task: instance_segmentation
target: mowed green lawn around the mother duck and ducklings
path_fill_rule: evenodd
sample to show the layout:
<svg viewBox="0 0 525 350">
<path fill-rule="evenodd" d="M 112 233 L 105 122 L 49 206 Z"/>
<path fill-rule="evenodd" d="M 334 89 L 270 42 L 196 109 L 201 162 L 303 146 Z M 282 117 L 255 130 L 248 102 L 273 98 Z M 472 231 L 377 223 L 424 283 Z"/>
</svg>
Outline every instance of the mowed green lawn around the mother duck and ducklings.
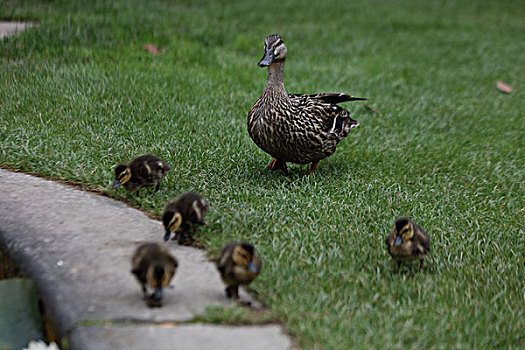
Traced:
<svg viewBox="0 0 525 350">
<path fill-rule="evenodd" d="M 525 346 L 522 2 L 14 0 L 0 14 L 39 23 L 0 43 L 1 166 L 156 215 L 202 193 L 198 238 L 256 245 L 254 292 L 304 348 Z M 345 104 L 361 126 L 312 176 L 268 172 L 246 130 L 272 33 L 289 93 L 380 111 Z M 174 168 L 161 190 L 111 190 L 113 166 L 145 153 Z M 401 215 L 431 237 L 421 273 L 394 273 L 386 251 Z"/>
</svg>

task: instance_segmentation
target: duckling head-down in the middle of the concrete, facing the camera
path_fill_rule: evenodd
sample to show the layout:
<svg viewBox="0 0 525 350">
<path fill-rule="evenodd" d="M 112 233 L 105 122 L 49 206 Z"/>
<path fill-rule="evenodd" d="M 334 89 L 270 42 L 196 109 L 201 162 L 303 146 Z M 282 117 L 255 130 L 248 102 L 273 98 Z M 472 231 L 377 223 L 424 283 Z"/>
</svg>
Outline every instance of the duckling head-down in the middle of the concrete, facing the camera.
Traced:
<svg viewBox="0 0 525 350">
<path fill-rule="evenodd" d="M 166 287 L 177 271 L 177 259 L 169 250 L 157 243 L 141 244 L 131 259 L 131 273 L 142 286 L 148 306 L 162 306 L 162 288 Z M 147 286 L 154 288 L 148 295 Z"/>
</svg>

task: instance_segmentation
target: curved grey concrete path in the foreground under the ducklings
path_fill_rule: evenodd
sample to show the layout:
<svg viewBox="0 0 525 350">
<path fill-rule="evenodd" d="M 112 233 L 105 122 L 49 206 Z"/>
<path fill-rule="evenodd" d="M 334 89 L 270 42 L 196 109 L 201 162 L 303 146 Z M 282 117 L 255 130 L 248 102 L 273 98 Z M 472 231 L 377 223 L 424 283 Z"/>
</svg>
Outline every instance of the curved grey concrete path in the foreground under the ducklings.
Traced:
<svg viewBox="0 0 525 350">
<path fill-rule="evenodd" d="M 122 202 L 0 169 L 0 241 L 36 282 L 71 349 L 292 347 L 278 325 L 181 324 L 230 301 L 204 251 L 172 241 L 174 288 L 163 307 L 148 308 L 130 273 L 131 255 L 140 242 L 162 242 L 162 234 L 159 221 Z"/>
</svg>

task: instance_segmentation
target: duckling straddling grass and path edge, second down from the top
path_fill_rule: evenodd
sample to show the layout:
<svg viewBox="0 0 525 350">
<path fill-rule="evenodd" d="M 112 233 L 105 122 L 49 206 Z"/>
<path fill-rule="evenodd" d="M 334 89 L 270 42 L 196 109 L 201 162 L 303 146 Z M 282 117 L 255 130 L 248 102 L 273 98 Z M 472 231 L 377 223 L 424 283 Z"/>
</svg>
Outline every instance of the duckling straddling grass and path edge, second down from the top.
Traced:
<svg viewBox="0 0 525 350">
<path fill-rule="evenodd" d="M 162 214 L 166 229 L 164 241 L 169 240 L 171 233 L 175 232 L 174 239 L 178 238 L 179 244 L 191 244 L 194 239 L 191 234 L 188 235 L 190 227 L 195 233 L 196 225 L 205 225 L 204 217 L 209 208 L 208 201 L 198 193 L 188 192 L 172 199 Z"/>
</svg>

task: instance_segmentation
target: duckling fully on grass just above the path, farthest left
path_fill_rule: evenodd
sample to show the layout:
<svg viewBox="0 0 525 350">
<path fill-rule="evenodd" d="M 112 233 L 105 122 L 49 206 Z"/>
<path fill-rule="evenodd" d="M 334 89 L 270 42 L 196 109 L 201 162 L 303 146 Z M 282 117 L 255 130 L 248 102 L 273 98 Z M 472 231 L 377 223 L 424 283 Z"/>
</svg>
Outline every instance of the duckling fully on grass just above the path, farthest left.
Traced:
<svg viewBox="0 0 525 350">
<path fill-rule="evenodd" d="M 128 191 L 137 191 L 143 186 L 155 186 L 155 191 L 160 188 L 160 181 L 171 168 L 162 159 L 146 154 L 133 159 L 128 165 L 118 164 L 115 167 L 115 183 L 113 188 L 124 185 Z"/>
</svg>

